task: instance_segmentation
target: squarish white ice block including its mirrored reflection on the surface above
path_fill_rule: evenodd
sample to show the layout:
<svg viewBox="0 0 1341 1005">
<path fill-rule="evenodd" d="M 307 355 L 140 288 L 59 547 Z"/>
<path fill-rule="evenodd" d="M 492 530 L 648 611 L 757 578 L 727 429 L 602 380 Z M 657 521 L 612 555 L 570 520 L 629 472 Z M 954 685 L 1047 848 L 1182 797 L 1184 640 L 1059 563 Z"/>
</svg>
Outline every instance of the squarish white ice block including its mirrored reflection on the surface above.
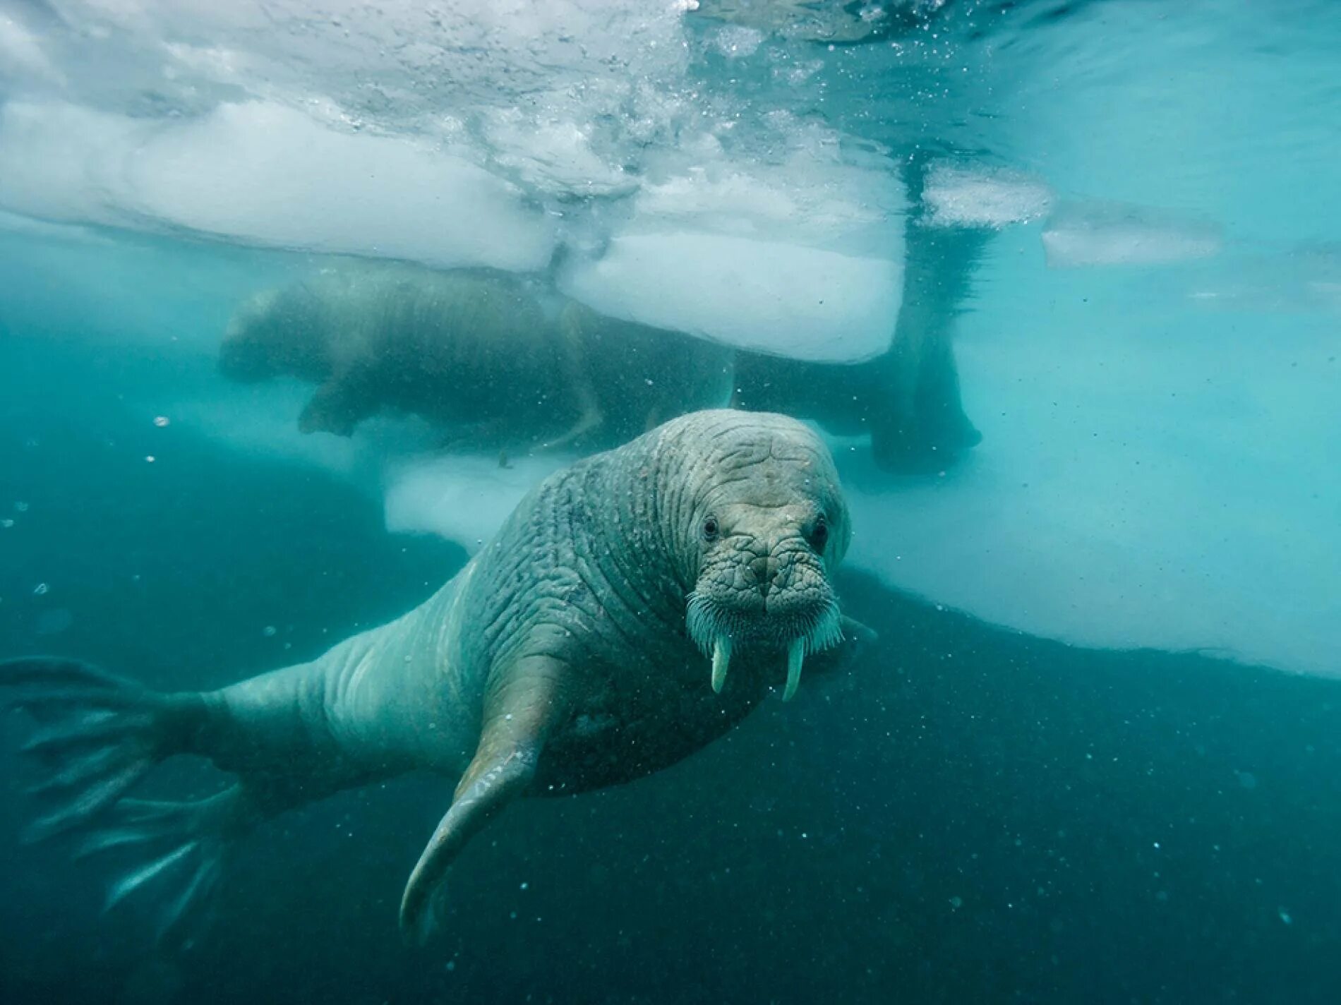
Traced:
<svg viewBox="0 0 1341 1005">
<path fill-rule="evenodd" d="M 666 156 L 628 219 L 559 287 L 593 309 L 725 345 L 850 362 L 889 348 L 902 302 L 902 184 L 835 138 L 775 118 L 776 162 L 713 137 Z"/>
</svg>

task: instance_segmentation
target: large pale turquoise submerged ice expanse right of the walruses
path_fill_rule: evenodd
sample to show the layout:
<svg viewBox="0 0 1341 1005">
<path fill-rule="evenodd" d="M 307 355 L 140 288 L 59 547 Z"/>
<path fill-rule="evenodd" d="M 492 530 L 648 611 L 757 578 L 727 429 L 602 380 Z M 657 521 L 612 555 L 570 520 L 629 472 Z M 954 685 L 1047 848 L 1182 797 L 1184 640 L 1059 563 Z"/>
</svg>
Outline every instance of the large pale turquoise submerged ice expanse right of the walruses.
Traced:
<svg viewBox="0 0 1341 1005">
<path fill-rule="evenodd" d="M 982 444 L 929 483 L 839 451 L 850 561 L 1035 635 L 1341 675 L 1330 318 L 1179 310 L 1147 276 L 1043 284 L 1023 247 L 957 346 Z"/>
</svg>

